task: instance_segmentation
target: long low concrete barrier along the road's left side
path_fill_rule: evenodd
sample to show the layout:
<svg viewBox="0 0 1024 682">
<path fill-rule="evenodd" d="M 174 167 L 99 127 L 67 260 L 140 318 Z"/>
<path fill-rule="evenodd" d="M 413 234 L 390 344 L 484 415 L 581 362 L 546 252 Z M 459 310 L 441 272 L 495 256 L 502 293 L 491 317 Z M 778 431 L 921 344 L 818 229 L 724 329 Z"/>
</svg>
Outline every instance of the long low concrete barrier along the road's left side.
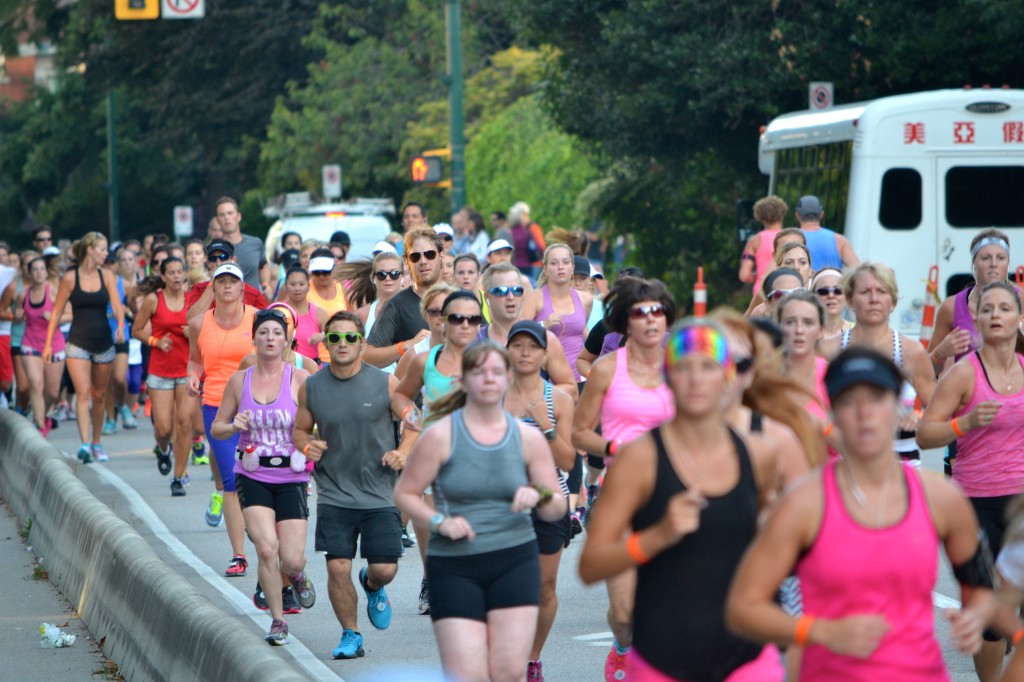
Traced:
<svg viewBox="0 0 1024 682">
<path fill-rule="evenodd" d="M 29 422 L 0 410 L 0 494 L 127 680 L 307 680 L 175 573 Z"/>
</svg>

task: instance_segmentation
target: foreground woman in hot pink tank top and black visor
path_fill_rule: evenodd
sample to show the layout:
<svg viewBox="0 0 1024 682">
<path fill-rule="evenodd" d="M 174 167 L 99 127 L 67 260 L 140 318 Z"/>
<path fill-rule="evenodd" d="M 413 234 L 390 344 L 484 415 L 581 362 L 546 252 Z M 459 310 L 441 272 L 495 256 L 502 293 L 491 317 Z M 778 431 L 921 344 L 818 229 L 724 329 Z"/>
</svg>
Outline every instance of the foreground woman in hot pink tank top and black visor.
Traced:
<svg viewBox="0 0 1024 682">
<path fill-rule="evenodd" d="M 740 564 L 726 622 L 741 636 L 804 647 L 801 680 L 948 680 L 935 638 L 932 589 L 942 543 L 962 578 L 947 610 L 956 648 L 974 653 L 995 610 L 978 522 L 964 495 L 894 453 L 903 377 L 878 351 L 851 347 L 825 384 L 843 459 L 779 503 Z M 796 567 L 804 615 L 773 601 Z"/>
</svg>

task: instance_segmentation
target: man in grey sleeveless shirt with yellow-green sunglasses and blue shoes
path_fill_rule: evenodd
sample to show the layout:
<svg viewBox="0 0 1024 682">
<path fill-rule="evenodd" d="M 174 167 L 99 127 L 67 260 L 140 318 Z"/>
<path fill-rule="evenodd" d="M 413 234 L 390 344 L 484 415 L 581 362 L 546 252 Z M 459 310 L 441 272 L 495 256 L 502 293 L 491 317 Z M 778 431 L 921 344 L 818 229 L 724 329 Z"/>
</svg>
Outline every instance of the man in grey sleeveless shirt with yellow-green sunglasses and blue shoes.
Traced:
<svg viewBox="0 0 1024 682">
<path fill-rule="evenodd" d="M 391 624 L 384 587 L 394 580 L 402 553 L 401 515 L 393 493 L 414 435 L 407 430 L 394 447 L 398 380 L 362 361 L 364 331 L 351 312 L 336 312 L 327 321 L 331 360 L 299 389 L 295 419 L 295 446 L 316 463 L 314 551 L 327 553 L 328 594 L 342 627 L 341 641 L 332 651 L 335 658 L 365 654 L 351 577 L 356 537 L 367 560 L 359 570 L 367 614 L 378 630 Z"/>
</svg>

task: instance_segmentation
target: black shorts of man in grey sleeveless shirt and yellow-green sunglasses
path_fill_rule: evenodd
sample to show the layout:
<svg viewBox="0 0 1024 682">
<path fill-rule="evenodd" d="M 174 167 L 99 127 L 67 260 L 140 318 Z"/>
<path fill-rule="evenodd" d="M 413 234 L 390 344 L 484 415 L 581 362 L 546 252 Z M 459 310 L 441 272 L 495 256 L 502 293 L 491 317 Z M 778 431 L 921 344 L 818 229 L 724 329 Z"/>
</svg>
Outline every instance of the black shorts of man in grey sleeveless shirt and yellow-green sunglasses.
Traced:
<svg viewBox="0 0 1024 682">
<path fill-rule="evenodd" d="M 355 541 L 368 563 L 397 563 L 401 556 L 401 514 L 397 507 L 346 509 L 316 505 L 313 549 L 328 560 L 354 559 Z"/>
</svg>

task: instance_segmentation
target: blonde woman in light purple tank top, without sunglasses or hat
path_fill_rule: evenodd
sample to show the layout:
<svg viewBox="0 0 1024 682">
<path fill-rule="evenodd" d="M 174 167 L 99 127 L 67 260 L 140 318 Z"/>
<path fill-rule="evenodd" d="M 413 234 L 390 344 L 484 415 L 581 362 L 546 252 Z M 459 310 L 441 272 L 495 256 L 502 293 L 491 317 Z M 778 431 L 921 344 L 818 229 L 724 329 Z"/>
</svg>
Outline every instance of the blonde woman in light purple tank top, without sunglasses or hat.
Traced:
<svg viewBox="0 0 1024 682">
<path fill-rule="evenodd" d="M 544 252 L 544 271 L 537 281 L 537 291 L 523 303 L 522 319 L 544 323 L 558 337 L 579 383 L 575 359 L 587 338 L 587 319 L 594 295 L 572 288 L 572 249 L 566 244 L 552 244 Z"/>
</svg>

